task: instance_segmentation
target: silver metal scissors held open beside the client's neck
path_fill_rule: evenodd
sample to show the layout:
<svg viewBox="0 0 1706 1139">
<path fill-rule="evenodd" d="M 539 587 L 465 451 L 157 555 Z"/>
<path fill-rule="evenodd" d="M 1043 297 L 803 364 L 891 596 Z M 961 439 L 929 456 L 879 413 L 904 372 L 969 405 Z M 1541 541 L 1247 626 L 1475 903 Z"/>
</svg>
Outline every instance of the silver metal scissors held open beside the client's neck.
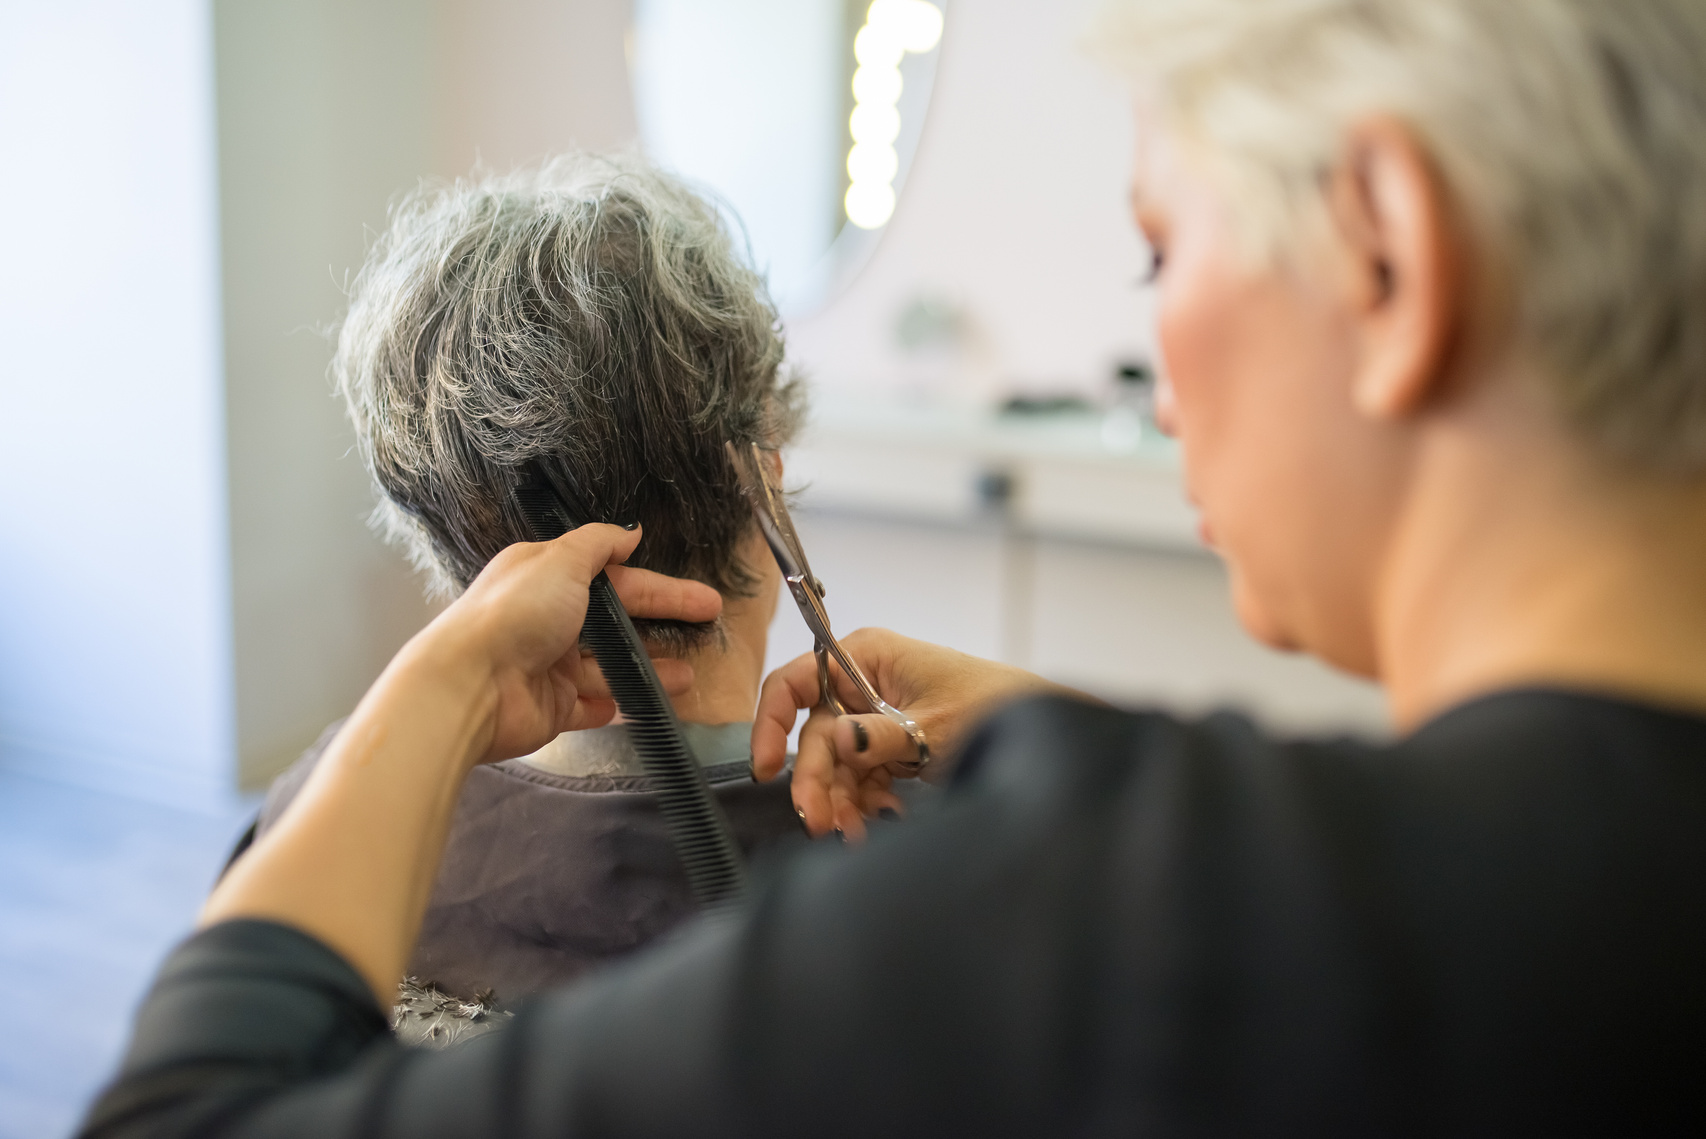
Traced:
<svg viewBox="0 0 1706 1139">
<path fill-rule="evenodd" d="M 829 631 L 829 612 L 824 609 L 824 583 L 812 576 L 812 566 L 805 561 L 805 547 L 800 546 L 800 535 L 793 529 L 788 506 L 781 501 L 781 488 L 776 486 L 776 479 L 769 472 L 769 464 L 764 462 L 763 450 L 757 443 L 752 443 L 746 450 L 734 443 L 723 443 L 723 447 L 728 450 L 728 460 L 735 465 L 740 489 L 746 491 L 747 500 L 752 503 L 757 529 L 764 532 L 769 552 L 776 556 L 776 564 L 781 566 L 781 578 L 788 583 L 788 592 L 793 593 L 793 602 L 800 607 L 800 616 L 805 617 L 805 627 L 812 631 L 812 655 L 817 658 L 817 691 L 824 699 L 824 706 L 838 716 L 848 714 L 846 706 L 836 696 L 836 685 L 829 675 L 829 658 L 834 656 L 836 663 L 841 665 L 841 672 L 853 680 L 853 685 L 858 687 L 860 696 L 865 697 L 870 709 L 882 713 L 906 731 L 913 747 L 918 749 L 918 759 L 897 760 L 896 767 L 901 767 L 906 774 L 918 774 L 930 762 L 930 745 L 925 742 L 925 730 L 911 716 L 877 696 L 877 689 L 865 679 L 865 674 L 848 656 L 848 651 L 841 648 L 836 634 Z"/>
</svg>

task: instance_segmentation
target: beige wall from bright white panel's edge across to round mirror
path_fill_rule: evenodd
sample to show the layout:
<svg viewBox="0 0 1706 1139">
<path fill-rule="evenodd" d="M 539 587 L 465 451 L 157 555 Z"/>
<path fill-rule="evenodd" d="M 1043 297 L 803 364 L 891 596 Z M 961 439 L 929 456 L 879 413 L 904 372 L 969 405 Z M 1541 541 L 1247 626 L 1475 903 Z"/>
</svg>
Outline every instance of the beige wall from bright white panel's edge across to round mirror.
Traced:
<svg viewBox="0 0 1706 1139">
<path fill-rule="evenodd" d="M 633 138 L 624 0 L 213 0 L 242 781 L 346 714 L 432 614 L 367 529 L 326 367 L 386 208 L 421 177 Z"/>
</svg>

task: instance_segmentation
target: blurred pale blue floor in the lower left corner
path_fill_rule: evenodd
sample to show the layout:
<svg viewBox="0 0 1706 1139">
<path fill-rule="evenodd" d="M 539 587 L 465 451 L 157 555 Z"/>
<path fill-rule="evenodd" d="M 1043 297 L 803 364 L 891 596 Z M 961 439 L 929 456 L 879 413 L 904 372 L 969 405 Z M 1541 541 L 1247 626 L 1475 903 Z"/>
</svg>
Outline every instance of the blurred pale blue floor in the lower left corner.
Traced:
<svg viewBox="0 0 1706 1139">
<path fill-rule="evenodd" d="M 58 1139 L 252 808 L 223 817 L 0 772 L 0 1139 Z"/>
</svg>

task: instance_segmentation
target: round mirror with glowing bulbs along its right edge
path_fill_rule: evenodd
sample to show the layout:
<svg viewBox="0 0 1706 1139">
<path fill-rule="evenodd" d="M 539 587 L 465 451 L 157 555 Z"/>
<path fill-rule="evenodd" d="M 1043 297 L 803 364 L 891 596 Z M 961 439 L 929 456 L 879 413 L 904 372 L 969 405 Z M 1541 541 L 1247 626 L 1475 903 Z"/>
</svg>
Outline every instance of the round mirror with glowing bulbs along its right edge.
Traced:
<svg viewBox="0 0 1706 1139">
<path fill-rule="evenodd" d="M 783 314 L 870 254 L 923 130 L 945 0 L 635 0 L 647 153 L 737 217 Z"/>
</svg>

